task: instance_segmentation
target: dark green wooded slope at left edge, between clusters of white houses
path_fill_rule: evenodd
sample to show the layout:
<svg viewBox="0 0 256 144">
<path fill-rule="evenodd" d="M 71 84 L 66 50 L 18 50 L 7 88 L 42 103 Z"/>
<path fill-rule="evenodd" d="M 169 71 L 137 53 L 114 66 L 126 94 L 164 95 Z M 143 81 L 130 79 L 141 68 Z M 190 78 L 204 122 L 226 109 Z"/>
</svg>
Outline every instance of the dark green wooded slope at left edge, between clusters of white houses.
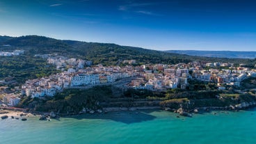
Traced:
<svg viewBox="0 0 256 144">
<path fill-rule="evenodd" d="M 45 77 L 56 72 L 56 67 L 47 64 L 42 58 L 28 55 L 0 56 L 0 79 L 5 79 L 8 86 L 19 86 L 27 79 Z"/>
</svg>

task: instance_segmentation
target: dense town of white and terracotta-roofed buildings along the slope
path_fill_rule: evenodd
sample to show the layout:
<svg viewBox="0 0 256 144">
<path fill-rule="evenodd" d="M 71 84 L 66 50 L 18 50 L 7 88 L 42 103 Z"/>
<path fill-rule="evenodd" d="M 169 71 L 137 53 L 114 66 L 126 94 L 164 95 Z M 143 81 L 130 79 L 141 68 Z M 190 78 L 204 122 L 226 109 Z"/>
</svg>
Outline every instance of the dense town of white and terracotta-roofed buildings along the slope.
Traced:
<svg viewBox="0 0 256 144">
<path fill-rule="evenodd" d="M 93 86 L 116 85 L 122 82 L 122 88 L 151 90 L 156 92 L 169 89 L 191 90 L 189 81 L 214 83 L 215 90 L 240 88 L 241 81 L 256 77 L 256 70 L 233 63 L 207 63 L 193 61 L 191 63 L 146 64 L 136 65 L 136 60 L 125 60 L 125 66 L 93 65 L 92 61 L 79 58 L 67 58 L 53 54 L 37 54 L 45 58 L 47 63 L 55 65 L 60 72 L 49 77 L 30 79 L 16 88 L 13 93 L 1 93 L 3 104 L 16 106 L 22 97 L 54 97 L 65 89 L 92 88 Z M 92 66 L 93 65 L 93 66 Z M 207 85 L 206 85 L 207 86 Z M 211 85 L 212 86 L 212 85 Z"/>
</svg>

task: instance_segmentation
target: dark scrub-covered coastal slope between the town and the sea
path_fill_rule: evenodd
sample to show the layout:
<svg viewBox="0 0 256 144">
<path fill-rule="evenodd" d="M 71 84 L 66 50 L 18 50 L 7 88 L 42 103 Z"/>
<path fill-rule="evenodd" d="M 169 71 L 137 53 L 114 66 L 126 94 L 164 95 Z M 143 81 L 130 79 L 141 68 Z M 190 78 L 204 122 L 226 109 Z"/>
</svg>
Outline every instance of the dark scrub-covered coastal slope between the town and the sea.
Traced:
<svg viewBox="0 0 256 144">
<path fill-rule="evenodd" d="M 115 95 L 120 91 L 118 95 Z M 140 95 L 136 95 L 140 94 Z M 147 95 L 147 96 L 145 96 Z M 154 96 L 154 97 L 153 97 Z M 173 97 L 174 96 L 174 97 Z M 33 111 L 79 113 L 86 109 L 97 111 L 103 109 L 130 110 L 138 108 L 161 108 L 167 111 L 195 112 L 195 109 L 207 111 L 209 109 L 237 110 L 255 106 L 255 95 L 230 94 L 223 91 L 193 91 L 168 93 L 152 93 L 143 90 L 122 91 L 111 86 L 95 87 L 88 90 L 67 89 L 63 93 L 49 99 L 25 99 L 22 106 Z"/>
</svg>

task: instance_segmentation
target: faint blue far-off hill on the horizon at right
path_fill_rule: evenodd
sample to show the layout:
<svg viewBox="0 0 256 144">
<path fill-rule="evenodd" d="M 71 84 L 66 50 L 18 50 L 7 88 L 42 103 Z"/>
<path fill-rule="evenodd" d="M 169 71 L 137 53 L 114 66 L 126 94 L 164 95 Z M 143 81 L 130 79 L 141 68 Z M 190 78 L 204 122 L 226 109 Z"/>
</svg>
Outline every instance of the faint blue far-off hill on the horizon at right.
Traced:
<svg viewBox="0 0 256 144">
<path fill-rule="evenodd" d="M 256 51 L 193 51 L 193 50 L 170 50 L 176 54 L 190 56 L 207 56 L 212 58 L 256 58 Z"/>
</svg>

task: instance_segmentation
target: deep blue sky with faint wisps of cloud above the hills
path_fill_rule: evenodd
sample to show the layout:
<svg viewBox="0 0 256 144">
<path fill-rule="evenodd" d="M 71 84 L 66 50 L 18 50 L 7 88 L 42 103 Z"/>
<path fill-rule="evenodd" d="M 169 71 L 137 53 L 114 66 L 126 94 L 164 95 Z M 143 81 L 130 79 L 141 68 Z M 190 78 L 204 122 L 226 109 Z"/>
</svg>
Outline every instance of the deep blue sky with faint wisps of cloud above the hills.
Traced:
<svg viewBox="0 0 256 144">
<path fill-rule="evenodd" d="M 0 0 L 0 35 L 256 51 L 254 0 Z"/>
</svg>

